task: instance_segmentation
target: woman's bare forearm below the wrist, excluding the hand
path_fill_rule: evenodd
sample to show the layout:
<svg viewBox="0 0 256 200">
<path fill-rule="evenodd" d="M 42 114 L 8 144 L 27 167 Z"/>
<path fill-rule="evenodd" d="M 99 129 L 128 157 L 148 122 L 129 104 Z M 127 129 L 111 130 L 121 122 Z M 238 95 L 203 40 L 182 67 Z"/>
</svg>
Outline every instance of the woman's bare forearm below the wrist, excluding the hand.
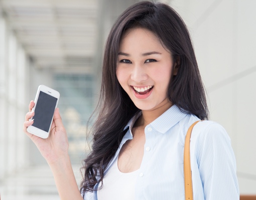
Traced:
<svg viewBox="0 0 256 200">
<path fill-rule="evenodd" d="M 65 158 L 48 164 L 52 169 L 60 199 L 83 200 L 75 180 L 69 156 L 67 155 Z"/>
</svg>

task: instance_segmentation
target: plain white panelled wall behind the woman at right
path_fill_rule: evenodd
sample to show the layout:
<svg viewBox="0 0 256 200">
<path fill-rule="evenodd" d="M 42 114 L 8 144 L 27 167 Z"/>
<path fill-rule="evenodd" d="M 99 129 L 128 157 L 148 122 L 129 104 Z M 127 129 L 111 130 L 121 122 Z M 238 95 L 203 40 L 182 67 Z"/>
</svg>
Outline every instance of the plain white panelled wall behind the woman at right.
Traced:
<svg viewBox="0 0 256 200">
<path fill-rule="evenodd" d="M 167 1 L 165 1 L 167 2 Z M 210 119 L 227 130 L 240 193 L 256 193 L 256 1 L 169 0 L 188 25 Z"/>
</svg>

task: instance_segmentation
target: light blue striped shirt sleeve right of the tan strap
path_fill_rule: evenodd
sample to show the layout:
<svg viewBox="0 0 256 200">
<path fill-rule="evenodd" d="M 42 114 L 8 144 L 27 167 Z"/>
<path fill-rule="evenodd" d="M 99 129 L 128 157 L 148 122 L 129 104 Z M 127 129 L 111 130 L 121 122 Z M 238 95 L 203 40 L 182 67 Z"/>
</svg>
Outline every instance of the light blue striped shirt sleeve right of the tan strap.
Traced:
<svg viewBox="0 0 256 200">
<path fill-rule="evenodd" d="M 225 129 L 216 122 L 209 123 L 200 132 L 197 147 L 205 199 L 239 199 L 236 162 Z"/>
</svg>

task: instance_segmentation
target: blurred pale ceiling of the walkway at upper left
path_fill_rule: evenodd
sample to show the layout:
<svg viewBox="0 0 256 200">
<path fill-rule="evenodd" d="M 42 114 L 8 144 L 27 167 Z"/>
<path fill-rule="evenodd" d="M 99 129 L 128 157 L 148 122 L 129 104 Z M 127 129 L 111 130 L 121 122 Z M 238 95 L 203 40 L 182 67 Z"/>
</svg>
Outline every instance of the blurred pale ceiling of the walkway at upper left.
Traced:
<svg viewBox="0 0 256 200">
<path fill-rule="evenodd" d="M 97 36 L 98 0 L 0 0 L 36 67 L 86 67 Z"/>
</svg>

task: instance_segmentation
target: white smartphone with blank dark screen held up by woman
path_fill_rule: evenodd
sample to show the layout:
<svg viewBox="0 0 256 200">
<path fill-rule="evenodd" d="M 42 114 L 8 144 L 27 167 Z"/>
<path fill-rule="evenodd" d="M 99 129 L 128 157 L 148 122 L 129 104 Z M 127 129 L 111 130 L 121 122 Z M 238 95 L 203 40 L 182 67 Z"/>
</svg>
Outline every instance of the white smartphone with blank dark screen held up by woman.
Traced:
<svg viewBox="0 0 256 200">
<path fill-rule="evenodd" d="M 28 126 L 27 131 L 42 138 L 49 136 L 50 128 L 53 121 L 53 113 L 57 107 L 60 93 L 45 85 L 39 85 L 35 106 L 32 111 L 35 115 L 29 120 L 34 119 L 34 123 Z"/>
</svg>

